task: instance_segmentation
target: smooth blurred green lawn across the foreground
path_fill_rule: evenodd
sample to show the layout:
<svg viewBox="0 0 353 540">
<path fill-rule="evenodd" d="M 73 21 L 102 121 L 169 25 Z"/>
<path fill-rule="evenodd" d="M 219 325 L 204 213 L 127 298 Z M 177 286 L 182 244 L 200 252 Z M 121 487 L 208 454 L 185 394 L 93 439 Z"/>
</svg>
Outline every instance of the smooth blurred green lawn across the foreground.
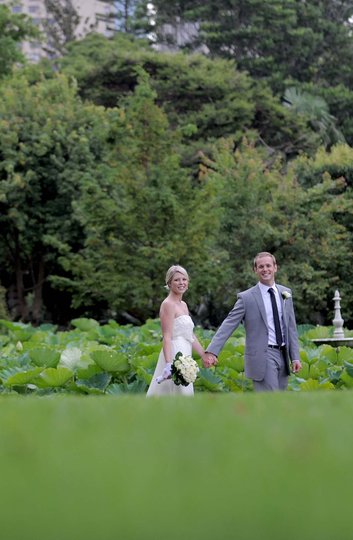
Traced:
<svg viewBox="0 0 353 540">
<path fill-rule="evenodd" d="M 0 398 L 3 540 L 345 540 L 353 392 Z"/>
</svg>

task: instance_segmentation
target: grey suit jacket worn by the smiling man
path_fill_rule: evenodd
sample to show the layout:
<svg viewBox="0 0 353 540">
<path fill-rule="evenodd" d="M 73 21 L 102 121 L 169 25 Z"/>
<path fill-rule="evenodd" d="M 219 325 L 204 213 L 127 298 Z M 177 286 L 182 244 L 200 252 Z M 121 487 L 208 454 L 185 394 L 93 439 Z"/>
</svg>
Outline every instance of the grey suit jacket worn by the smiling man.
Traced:
<svg viewBox="0 0 353 540">
<path fill-rule="evenodd" d="M 287 374 L 290 362 L 299 360 L 297 325 L 292 297 L 283 300 L 283 291 L 291 292 L 287 287 L 277 285 L 282 302 L 283 327 L 285 339 L 285 361 Z M 238 299 L 214 335 L 207 351 L 218 356 L 227 339 L 240 323 L 244 324 L 245 338 L 245 375 L 255 381 L 265 376 L 268 345 L 268 324 L 265 305 L 259 285 L 238 294 Z"/>
</svg>

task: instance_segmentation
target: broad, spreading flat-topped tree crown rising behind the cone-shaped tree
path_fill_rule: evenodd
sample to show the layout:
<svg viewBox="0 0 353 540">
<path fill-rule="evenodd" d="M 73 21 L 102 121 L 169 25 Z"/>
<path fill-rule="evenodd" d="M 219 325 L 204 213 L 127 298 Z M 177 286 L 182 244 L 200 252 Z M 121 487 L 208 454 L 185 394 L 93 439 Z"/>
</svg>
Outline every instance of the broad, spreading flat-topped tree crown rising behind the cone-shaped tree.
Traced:
<svg viewBox="0 0 353 540">
<path fill-rule="evenodd" d="M 237 70 L 233 60 L 156 52 L 144 40 L 119 34 L 72 43 L 61 66 L 77 79 L 84 99 L 106 107 L 133 91 L 142 66 L 157 104 L 183 133 L 189 161 L 217 138 L 229 135 L 237 143 L 249 129 L 261 144 L 288 157 L 313 153 L 320 144 L 308 119 L 285 107 L 264 82 Z"/>
</svg>

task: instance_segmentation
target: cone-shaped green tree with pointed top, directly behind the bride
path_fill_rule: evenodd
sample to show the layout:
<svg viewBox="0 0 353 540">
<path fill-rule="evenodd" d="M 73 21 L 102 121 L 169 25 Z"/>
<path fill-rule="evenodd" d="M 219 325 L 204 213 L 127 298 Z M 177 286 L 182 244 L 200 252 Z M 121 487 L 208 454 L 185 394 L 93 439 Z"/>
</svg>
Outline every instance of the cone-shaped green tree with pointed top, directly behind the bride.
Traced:
<svg viewBox="0 0 353 540">
<path fill-rule="evenodd" d="M 176 135 L 155 100 L 142 73 L 134 94 L 109 112 L 109 168 L 86 183 L 75 204 L 85 245 L 62 257 L 73 277 L 60 282 L 75 305 L 93 309 L 103 303 L 108 315 L 123 320 L 158 315 L 172 264 L 194 273 L 189 298 L 195 304 L 205 276 L 212 280 L 212 194 L 181 167 Z"/>
</svg>

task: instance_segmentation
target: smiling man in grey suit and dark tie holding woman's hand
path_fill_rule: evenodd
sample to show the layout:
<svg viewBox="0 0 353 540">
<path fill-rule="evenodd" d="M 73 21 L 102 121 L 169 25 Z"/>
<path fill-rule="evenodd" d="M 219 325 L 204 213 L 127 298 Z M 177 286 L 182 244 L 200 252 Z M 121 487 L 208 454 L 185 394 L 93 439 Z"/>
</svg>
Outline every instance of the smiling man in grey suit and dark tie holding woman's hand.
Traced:
<svg viewBox="0 0 353 540">
<path fill-rule="evenodd" d="M 258 283 L 238 294 L 238 300 L 207 348 L 208 366 L 242 322 L 246 331 L 245 375 L 256 391 L 285 390 L 292 371 L 301 368 L 298 334 L 290 289 L 277 285 L 276 259 L 266 251 L 254 259 Z M 207 367 L 207 366 L 206 366 Z"/>
</svg>

